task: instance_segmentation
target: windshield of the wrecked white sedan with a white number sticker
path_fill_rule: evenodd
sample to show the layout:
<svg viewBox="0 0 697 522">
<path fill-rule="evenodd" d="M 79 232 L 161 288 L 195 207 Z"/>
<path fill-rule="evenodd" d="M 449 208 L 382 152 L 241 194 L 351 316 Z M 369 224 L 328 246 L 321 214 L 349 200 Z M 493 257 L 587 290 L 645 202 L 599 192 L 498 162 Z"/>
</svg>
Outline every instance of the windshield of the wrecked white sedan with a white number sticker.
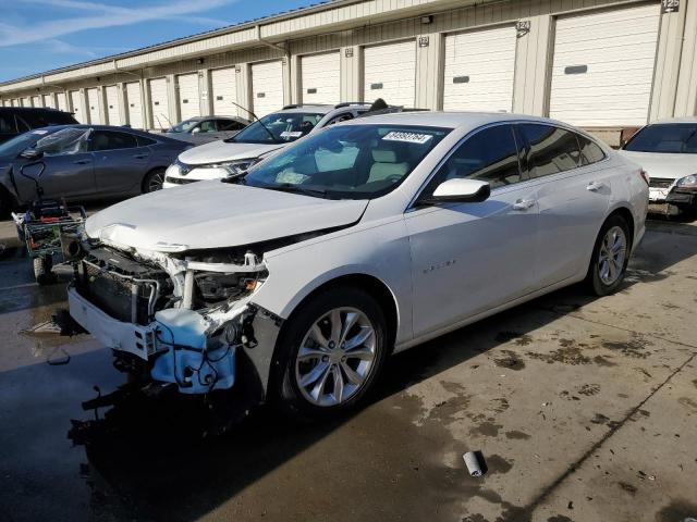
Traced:
<svg viewBox="0 0 697 522">
<path fill-rule="evenodd" d="M 450 132 L 405 125 L 329 127 L 249 170 L 254 187 L 337 199 L 388 194 Z"/>
</svg>

